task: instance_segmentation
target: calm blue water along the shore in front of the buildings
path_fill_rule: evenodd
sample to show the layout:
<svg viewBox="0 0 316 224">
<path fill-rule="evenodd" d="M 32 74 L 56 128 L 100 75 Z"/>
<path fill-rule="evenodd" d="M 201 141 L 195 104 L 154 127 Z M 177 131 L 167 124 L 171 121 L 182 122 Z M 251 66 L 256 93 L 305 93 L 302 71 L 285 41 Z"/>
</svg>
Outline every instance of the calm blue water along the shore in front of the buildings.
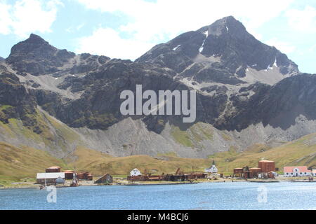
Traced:
<svg viewBox="0 0 316 224">
<path fill-rule="evenodd" d="M 263 186 L 267 200 L 258 202 Z M 0 209 L 316 209 L 316 183 L 58 188 L 57 203 L 48 203 L 47 195 L 37 189 L 0 190 Z"/>
</svg>

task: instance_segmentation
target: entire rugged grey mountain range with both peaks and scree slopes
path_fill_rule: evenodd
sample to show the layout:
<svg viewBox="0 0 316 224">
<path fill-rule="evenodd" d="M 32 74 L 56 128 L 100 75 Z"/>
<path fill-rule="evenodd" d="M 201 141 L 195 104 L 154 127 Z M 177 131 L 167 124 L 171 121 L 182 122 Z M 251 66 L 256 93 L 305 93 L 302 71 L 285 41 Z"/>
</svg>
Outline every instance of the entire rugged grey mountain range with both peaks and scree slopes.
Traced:
<svg viewBox="0 0 316 224">
<path fill-rule="evenodd" d="M 316 132 L 316 76 L 256 40 L 233 17 L 180 34 L 131 60 L 59 50 L 31 34 L 0 62 L 0 141 L 67 158 L 206 158 L 278 146 Z M 122 116 L 123 90 L 196 90 L 197 119 Z"/>
</svg>

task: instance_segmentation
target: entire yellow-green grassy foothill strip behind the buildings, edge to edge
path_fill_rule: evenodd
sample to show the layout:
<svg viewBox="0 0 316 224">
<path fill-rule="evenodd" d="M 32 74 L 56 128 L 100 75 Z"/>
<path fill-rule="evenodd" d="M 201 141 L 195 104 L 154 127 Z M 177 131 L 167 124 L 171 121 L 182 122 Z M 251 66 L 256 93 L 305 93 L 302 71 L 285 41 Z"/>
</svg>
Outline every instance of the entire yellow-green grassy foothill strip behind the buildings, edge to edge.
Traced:
<svg viewBox="0 0 316 224">
<path fill-rule="evenodd" d="M 258 160 L 274 160 L 277 167 L 285 165 L 316 166 L 316 133 L 302 137 L 276 148 L 265 145 L 255 145 L 243 153 L 237 153 L 235 148 L 225 153 L 216 153 L 209 159 L 178 158 L 174 153 L 157 155 L 152 158 L 148 155 L 133 155 L 116 158 L 110 155 L 79 147 L 74 152 L 74 160 L 67 165 L 53 158 L 44 151 L 29 147 L 13 147 L 9 144 L 0 143 L 0 184 L 22 177 L 34 178 L 37 172 L 43 172 L 46 167 L 59 165 L 65 169 L 87 171 L 95 176 L 110 173 L 113 175 L 129 174 L 131 169 L 137 167 L 141 172 L 147 169 L 152 174 L 175 172 L 180 167 L 185 172 L 203 171 L 209 167 L 212 160 L 216 161 L 219 172 L 231 174 L 235 167 L 257 167 Z M 71 162 L 72 161 L 72 162 Z"/>
</svg>

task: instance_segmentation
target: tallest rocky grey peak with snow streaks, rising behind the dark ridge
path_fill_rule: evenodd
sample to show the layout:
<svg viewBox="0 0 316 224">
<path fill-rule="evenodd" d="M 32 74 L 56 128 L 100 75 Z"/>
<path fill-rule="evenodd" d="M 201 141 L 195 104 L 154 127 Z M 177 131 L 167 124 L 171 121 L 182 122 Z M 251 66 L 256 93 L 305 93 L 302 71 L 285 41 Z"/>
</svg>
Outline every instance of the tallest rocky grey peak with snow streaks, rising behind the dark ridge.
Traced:
<svg viewBox="0 0 316 224">
<path fill-rule="evenodd" d="M 236 85 L 261 80 L 275 84 L 298 73 L 298 66 L 287 55 L 256 40 L 232 16 L 156 45 L 136 62 L 161 64 L 177 71 L 177 78 L 190 78 L 191 83 Z"/>
</svg>

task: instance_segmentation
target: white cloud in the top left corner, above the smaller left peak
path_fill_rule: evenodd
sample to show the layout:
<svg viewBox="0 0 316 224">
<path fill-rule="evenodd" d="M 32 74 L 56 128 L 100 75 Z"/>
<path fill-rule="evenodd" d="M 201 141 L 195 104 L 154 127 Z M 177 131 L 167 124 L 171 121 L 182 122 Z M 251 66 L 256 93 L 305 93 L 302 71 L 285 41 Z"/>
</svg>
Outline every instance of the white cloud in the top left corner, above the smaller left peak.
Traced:
<svg viewBox="0 0 316 224">
<path fill-rule="evenodd" d="M 50 32 L 59 5 L 58 0 L 19 0 L 14 4 L 0 0 L 0 34 L 25 38 L 31 32 Z"/>
</svg>

